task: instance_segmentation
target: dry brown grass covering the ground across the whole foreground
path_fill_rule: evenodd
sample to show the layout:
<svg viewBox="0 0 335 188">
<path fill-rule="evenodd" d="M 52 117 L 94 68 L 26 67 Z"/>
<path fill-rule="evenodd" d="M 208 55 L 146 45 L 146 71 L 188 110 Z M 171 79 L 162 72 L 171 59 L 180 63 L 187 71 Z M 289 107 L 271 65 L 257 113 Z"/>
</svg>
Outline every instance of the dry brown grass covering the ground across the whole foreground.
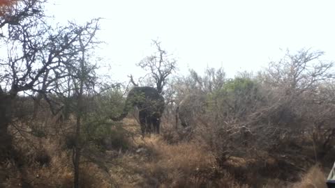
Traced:
<svg viewBox="0 0 335 188">
<path fill-rule="evenodd" d="M 124 123 L 131 125 L 126 126 L 129 132 L 139 132 L 140 126 L 133 126 L 134 120 L 126 119 Z M 17 140 L 24 165 L 20 169 L 14 162 L 0 165 L 0 180 L 3 172 L 8 176 L 3 186 L 22 187 L 24 179 L 32 187 L 73 187 L 72 155 L 62 148 L 62 139 L 30 136 L 31 143 Z M 276 173 L 271 168 L 277 168 L 278 161 L 267 155 L 263 159 L 230 157 L 222 168 L 216 164 L 213 151 L 198 141 L 169 142 L 164 136 L 155 135 L 142 139 L 140 134 L 131 141 L 127 150 L 101 153 L 105 169 L 82 157 L 81 187 L 288 187 L 288 182 L 260 175 L 260 171 Z M 41 165 L 36 157 L 43 153 L 50 156 L 50 162 Z M 325 187 L 325 175 L 318 166 L 301 177 L 301 182 L 290 187 Z"/>
</svg>

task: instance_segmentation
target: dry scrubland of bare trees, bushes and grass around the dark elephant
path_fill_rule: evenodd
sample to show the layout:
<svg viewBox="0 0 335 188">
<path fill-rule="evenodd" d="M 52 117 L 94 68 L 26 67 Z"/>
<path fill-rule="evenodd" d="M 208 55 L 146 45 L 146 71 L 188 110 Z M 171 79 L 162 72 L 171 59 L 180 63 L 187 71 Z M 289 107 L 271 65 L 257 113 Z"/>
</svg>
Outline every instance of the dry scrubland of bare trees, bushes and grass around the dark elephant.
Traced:
<svg viewBox="0 0 335 188">
<path fill-rule="evenodd" d="M 326 187 L 335 72 L 323 52 L 231 79 L 177 75 L 154 41 L 147 77 L 111 83 L 91 63 L 98 19 L 54 28 L 43 2 L 17 3 L 0 14 L 0 187 Z M 161 134 L 142 138 L 137 109 L 111 120 L 132 86 L 165 97 Z"/>
</svg>

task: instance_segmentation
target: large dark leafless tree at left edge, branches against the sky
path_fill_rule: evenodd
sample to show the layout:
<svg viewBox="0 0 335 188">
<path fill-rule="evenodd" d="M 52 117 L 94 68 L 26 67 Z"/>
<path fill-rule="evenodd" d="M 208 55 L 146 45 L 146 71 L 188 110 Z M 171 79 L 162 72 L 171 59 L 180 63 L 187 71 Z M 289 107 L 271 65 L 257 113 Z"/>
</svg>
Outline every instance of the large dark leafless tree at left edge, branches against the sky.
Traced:
<svg viewBox="0 0 335 188">
<path fill-rule="evenodd" d="M 18 93 L 49 93 L 57 81 L 67 77 L 66 63 L 73 61 L 80 33 L 73 26 L 49 26 L 43 1 L 18 1 L 3 15 L 0 59 L 0 141 L 1 156 L 10 151 L 8 126 L 11 104 Z M 43 94 L 43 95 L 44 95 Z"/>
</svg>

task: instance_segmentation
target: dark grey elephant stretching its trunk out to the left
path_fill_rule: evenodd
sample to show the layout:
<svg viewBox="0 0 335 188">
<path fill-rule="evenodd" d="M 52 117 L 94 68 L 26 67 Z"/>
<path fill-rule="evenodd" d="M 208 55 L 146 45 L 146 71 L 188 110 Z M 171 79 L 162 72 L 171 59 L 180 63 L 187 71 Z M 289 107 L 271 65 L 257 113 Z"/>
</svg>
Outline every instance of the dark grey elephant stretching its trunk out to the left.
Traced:
<svg viewBox="0 0 335 188">
<path fill-rule="evenodd" d="M 165 103 L 164 97 L 158 93 L 157 89 L 149 86 L 132 88 L 126 97 L 126 104 L 121 115 L 111 117 L 111 119 L 122 120 L 133 107 L 137 107 L 139 111 L 142 136 L 145 133 L 151 134 L 151 126 L 154 127 L 154 133 L 159 134 Z"/>
</svg>

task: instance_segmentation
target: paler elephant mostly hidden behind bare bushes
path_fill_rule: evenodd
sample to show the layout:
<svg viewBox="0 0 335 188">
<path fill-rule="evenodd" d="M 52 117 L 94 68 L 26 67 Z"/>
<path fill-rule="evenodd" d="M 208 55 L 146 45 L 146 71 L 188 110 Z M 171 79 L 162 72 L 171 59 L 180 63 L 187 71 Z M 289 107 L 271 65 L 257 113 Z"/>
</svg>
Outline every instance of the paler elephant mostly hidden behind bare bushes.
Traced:
<svg viewBox="0 0 335 188">
<path fill-rule="evenodd" d="M 189 127 L 195 123 L 195 118 L 204 113 L 206 98 L 201 94 L 188 94 L 179 102 L 176 109 L 176 127 L 180 120 L 181 126 Z"/>
</svg>

